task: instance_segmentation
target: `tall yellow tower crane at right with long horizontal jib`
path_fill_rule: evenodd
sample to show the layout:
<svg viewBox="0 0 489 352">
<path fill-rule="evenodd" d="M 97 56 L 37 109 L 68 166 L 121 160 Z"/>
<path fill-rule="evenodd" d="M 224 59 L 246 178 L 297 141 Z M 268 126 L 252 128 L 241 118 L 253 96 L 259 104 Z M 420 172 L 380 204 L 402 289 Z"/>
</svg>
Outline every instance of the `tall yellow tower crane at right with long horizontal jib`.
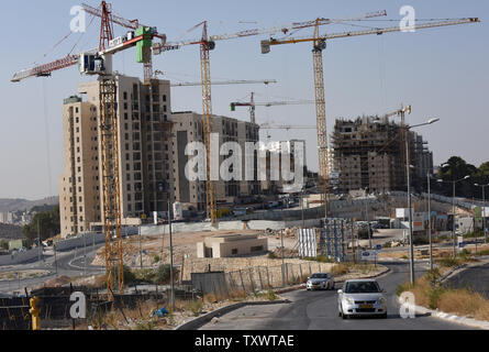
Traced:
<svg viewBox="0 0 489 352">
<path fill-rule="evenodd" d="M 318 20 L 319 21 L 319 20 Z M 432 21 L 429 23 L 415 24 L 415 30 L 423 30 L 437 26 L 457 25 L 480 22 L 478 18 L 464 18 L 444 21 Z M 275 40 L 269 38 L 262 41 L 262 53 L 268 54 L 270 52 L 270 46 L 281 45 L 281 44 L 296 44 L 312 42 L 313 50 L 313 72 L 314 72 L 314 92 L 316 101 L 316 120 L 318 120 L 318 152 L 319 152 L 319 176 L 323 188 L 322 200 L 324 201 L 324 212 L 327 217 L 329 208 L 329 175 L 327 175 L 327 130 L 326 130 L 326 116 L 325 116 L 325 97 L 324 97 L 324 77 L 323 77 L 323 57 L 322 52 L 326 48 L 326 41 L 335 38 L 344 38 L 359 35 L 381 35 L 384 33 L 401 32 L 403 29 L 401 26 L 392 28 L 379 28 L 366 31 L 352 31 L 342 33 L 332 33 L 320 35 L 319 33 L 319 22 L 314 26 L 314 35 L 300 38 L 284 38 Z M 405 111 L 404 111 L 405 112 Z M 403 117 L 404 112 L 399 112 Z M 396 112 L 397 114 L 398 112 Z"/>
</svg>

